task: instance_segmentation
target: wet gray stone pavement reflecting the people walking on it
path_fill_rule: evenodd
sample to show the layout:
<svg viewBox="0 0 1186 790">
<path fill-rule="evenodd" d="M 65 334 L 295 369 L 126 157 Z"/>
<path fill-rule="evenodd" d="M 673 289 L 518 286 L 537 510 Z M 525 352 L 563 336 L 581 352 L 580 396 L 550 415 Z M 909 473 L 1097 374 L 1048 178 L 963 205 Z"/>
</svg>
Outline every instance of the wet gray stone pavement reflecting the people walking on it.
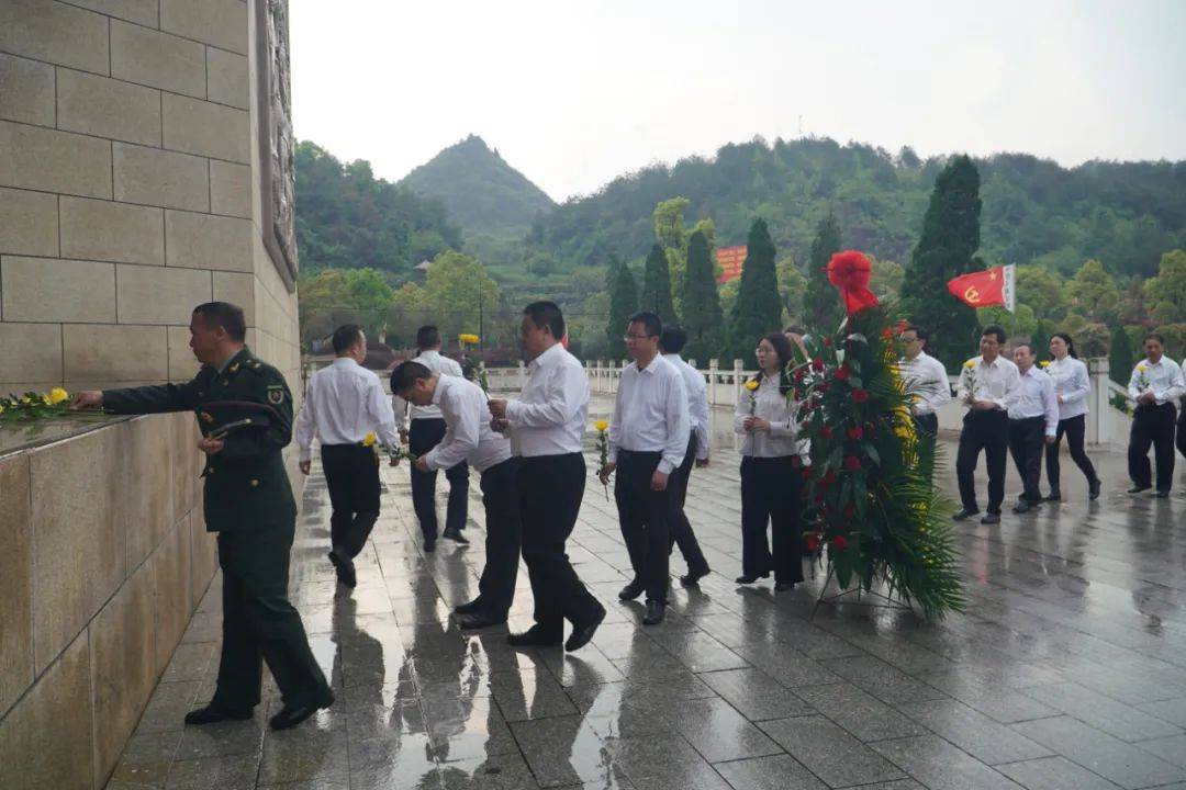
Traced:
<svg viewBox="0 0 1186 790">
<path fill-rule="evenodd" d="M 770 582 L 733 584 L 738 457 L 731 415 L 714 419 L 713 464 L 693 474 L 688 500 L 713 574 L 699 590 L 672 578 L 668 621 L 642 627 L 642 605 L 617 599 L 630 563 L 591 479 L 569 555 L 608 616 L 574 654 L 512 650 L 505 627 L 449 622 L 483 563 L 477 479 L 473 544 L 426 555 L 408 473 L 384 467 L 384 512 L 351 592 L 325 558 L 315 468 L 292 596 L 337 704 L 273 733 L 269 681 L 254 720 L 181 725 L 217 673 L 216 579 L 107 786 L 1186 790 L 1181 474 L 1168 501 L 1130 497 L 1123 456 L 1096 451 L 1104 496 L 1089 505 L 1067 460 L 1061 505 L 959 525 L 965 614 L 927 624 L 824 605 L 812 618 L 822 574 L 777 597 Z M 1019 488 L 1010 468 L 1010 499 Z M 671 571 L 684 572 L 678 552 Z M 518 585 L 512 630 L 530 623 L 525 571 Z"/>
</svg>

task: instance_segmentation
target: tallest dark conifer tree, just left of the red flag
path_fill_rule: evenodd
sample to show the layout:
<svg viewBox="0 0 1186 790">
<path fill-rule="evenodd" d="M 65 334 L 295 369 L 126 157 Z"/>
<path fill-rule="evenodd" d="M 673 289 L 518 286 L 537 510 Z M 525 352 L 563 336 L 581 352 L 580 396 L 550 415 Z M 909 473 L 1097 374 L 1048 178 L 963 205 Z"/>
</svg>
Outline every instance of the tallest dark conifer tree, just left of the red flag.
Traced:
<svg viewBox="0 0 1186 790">
<path fill-rule="evenodd" d="M 973 257 L 980 248 L 981 205 L 980 172 L 968 156 L 956 156 L 935 179 L 901 287 L 906 314 L 931 333 L 927 353 L 948 370 L 976 353 L 976 313 L 948 294 L 946 284 L 984 268 Z"/>
</svg>

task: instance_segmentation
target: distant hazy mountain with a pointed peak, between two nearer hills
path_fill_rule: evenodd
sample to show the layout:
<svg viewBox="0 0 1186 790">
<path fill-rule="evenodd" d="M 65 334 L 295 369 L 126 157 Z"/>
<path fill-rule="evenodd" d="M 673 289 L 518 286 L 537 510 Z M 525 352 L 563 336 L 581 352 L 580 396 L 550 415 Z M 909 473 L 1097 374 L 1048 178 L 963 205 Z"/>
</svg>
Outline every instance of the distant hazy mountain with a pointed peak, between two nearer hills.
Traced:
<svg viewBox="0 0 1186 790">
<path fill-rule="evenodd" d="M 556 205 L 476 135 L 408 173 L 400 186 L 440 200 L 467 235 L 518 237 Z"/>
</svg>

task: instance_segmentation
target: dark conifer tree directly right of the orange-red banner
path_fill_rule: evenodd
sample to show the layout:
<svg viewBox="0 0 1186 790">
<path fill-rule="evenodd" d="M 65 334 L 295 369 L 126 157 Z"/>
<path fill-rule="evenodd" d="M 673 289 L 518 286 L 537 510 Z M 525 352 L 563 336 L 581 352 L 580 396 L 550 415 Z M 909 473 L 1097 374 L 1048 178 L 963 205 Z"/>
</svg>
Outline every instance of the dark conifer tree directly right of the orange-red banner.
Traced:
<svg viewBox="0 0 1186 790">
<path fill-rule="evenodd" d="M 778 276 L 774 271 L 774 243 L 770 238 L 766 220 L 753 220 L 746 244 L 741 288 L 729 320 L 732 357 L 728 361 L 740 359 L 746 367 L 753 367 L 757 365 L 753 349 L 758 347 L 758 342 L 782 328 L 779 322 L 783 317 L 783 302 L 778 295 Z"/>
</svg>

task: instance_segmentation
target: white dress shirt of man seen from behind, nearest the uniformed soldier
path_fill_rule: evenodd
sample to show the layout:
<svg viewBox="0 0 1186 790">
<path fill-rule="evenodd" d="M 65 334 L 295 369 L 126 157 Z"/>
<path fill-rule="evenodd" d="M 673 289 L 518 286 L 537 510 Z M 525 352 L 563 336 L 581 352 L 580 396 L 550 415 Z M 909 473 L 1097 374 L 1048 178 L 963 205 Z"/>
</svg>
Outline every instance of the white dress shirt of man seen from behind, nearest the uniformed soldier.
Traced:
<svg viewBox="0 0 1186 790">
<path fill-rule="evenodd" d="M 321 444 L 358 444 L 371 431 L 385 444 L 400 441 L 395 415 L 375 373 L 347 357 L 339 357 L 310 378 L 305 403 L 296 416 L 301 461 L 313 457 L 314 436 Z"/>
</svg>

